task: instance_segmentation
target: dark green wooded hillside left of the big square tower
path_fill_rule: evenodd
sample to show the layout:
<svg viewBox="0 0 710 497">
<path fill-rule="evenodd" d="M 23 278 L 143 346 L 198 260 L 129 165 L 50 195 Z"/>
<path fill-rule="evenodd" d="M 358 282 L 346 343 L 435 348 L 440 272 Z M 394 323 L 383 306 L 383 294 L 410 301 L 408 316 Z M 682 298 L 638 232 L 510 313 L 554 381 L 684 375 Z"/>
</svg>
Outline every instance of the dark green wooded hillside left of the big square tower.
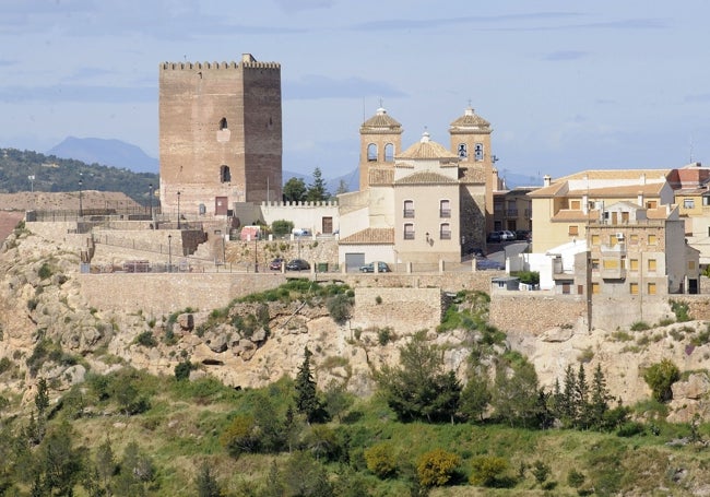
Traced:
<svg viewBox="0 0 710 497">
<path fill-rule="evenodd" d="M 149 185 L 158 185 L 158 176 L 152 173 L 133 173 L 32 151 L 0 149 L 0 193 L 78 192 L 80 179 L 84 190 L 122 192 L 145 205 L 149 203 Z"/>
</svg>

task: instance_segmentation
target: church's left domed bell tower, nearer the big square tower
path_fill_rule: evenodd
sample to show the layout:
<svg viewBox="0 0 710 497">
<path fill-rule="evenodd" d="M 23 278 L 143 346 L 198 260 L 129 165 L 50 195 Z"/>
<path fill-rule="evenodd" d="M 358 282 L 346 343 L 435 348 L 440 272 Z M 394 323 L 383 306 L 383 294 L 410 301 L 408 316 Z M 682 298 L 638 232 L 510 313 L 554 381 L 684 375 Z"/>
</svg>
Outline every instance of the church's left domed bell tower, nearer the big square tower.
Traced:
<svg viewBox="0 0 710 497">
<path fill-rule="evenodd" d="M 376 166 L 394 167 L 394 154 L 402 152 L 402 125 L 387 110 L 377 114 L 360 126 L 360 190 L 369 188 L 369 170 Z"/>
</svg>

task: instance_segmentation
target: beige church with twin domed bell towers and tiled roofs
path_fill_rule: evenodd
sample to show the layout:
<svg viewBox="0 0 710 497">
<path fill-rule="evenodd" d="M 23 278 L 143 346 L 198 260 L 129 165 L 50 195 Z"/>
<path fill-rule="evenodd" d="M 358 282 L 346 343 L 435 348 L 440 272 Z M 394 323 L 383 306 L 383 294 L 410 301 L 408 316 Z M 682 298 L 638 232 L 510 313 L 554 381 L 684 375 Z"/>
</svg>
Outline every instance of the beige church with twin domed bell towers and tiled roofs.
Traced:
<svg viewBox="0 0 710 497">
<path fill-rule="evenodd" d="M 401 125 L 382 108 L 360 127 L 360 191 L 339 196 L 340 263 L 460 262 L 485 244 L 497 175 L 490 128 L 468 108 L 451 123 L 452 150 L 428 132 L 398 153 Z"/>
</svg>

